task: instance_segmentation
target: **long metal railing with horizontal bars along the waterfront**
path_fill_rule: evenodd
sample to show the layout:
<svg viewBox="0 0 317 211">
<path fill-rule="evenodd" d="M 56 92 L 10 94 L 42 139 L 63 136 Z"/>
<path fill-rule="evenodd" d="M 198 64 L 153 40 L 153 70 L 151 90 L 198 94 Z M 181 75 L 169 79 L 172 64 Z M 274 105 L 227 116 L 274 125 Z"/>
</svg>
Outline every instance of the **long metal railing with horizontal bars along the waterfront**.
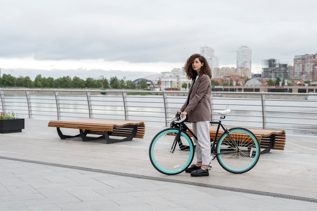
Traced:
<svg viewBox="0 0 317 211">
<path fill-rule="evenodd" d="M 20 118 L 106 118 L 168 126 L 187 92 L 0 89 L 1 106 Z M 228 126 L 317 135 L 317 94 L 213 92 L 212 110 L 231 109 Z M 213 120 L 219 115 L 213 115 Z"/>
</svg>

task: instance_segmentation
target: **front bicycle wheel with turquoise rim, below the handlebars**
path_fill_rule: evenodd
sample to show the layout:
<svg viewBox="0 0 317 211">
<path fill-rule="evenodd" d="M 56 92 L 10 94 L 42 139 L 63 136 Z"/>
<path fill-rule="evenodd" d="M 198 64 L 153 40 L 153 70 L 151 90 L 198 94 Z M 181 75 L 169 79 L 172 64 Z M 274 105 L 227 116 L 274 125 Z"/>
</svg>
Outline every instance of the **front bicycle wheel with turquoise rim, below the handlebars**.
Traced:
<svg viewBox="0 0 317 211">
<path fill-rule="evenodd" d="M 194 145 L 185 132 L 169 128 L 153 138 L 149 156 L 157 171 L 176 175 L 190 165 L 194 157 Z"/>
</svg>

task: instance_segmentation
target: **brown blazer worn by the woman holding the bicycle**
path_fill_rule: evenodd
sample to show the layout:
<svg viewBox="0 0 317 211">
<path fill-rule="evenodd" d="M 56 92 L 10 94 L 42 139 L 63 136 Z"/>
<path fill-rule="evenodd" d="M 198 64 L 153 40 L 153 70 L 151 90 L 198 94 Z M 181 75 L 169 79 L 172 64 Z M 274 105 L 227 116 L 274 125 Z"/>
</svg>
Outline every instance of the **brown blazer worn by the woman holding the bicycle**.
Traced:
<svg viewBox="0 0 317 211">
<path fill-rule="evenodd" d="M 188 96 L 189 103 L 187 105 Z M 180 109 L 182 112 L 187 112 L 188 121 L 211 121 L 211 81 L 209 76 L 200 75 L 196 82 L 191 83 L 188 96 Z"/>
</svg>

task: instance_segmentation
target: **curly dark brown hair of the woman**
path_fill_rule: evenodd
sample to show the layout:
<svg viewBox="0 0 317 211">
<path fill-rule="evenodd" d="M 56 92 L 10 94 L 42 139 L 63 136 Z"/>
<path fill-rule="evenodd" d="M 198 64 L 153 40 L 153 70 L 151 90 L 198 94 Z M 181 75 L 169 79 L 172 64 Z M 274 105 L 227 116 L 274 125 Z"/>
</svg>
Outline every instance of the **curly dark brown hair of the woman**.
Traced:
<svg viewBox="0 0 317 211">
<path fill-rule="evenodd" d="M 199 71 L 199 74 L 200 75 L 206 74 L 211 78 L 211 76 L 212 76 L 211 69 L 210 69 L 209 64 L 207 62 L 207 59 L 200 54 L 193 54 L 187 59 L 185 65 L 184 65 L 184 71 L 186 72 L 187 78 L 194 80 L 197 76 L 197 72 L 195 70 L 193 70 L 193 68 L 191 66 L 195 58 L 198 58 L 201 61 L 201 63 L 204 63 L 204 65 L 201 68 L 201 71 Z"/>
</svg>

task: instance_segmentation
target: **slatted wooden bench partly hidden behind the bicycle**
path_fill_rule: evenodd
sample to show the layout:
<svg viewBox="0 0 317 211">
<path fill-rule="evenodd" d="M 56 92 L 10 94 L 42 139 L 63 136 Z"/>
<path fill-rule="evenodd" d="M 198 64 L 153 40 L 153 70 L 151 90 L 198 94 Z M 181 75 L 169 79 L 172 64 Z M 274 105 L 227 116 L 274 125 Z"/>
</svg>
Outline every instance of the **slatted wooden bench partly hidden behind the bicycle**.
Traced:
<svg viewBox="0 0 317 211">
<path fill-rule="evenodd" d="M 189 127 L 190 128 L 190 127 Z M 230 127 L 227 127 L 230 129 Z M 261 154 L 268 153 L 271 149 L 284 150 L 286 142 L 286 134 L 283 130 L 271 130 L 271 129 L 255 129 L 247 128 L 250 130 L 260 143 L 260 147 L 264 150 L 261 151 Z M 190 128 L 192 130 L 192 128 Z M 217 131 L 217 125 L 209 126 L 209 135 L 211 139 L 215 139 Z M 222 128 L 220 127 L 218 137 L 219 138 L 223 133 Z M 189 132 L 187 132 L 189 135 Z"/>
</svg>

